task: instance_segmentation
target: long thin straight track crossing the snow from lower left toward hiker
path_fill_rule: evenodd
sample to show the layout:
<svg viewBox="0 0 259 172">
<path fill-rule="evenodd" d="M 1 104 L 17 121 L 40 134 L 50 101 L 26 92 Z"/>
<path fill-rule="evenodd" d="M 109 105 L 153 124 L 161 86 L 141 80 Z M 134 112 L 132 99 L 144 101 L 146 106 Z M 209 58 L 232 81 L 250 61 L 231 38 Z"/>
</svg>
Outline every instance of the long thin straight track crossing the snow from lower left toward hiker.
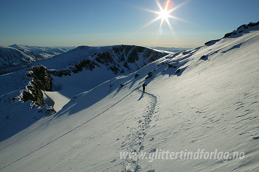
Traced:
<svg viewBox="0 0 259 172">
<path fill-rule="evenodd" d="M 119 100 L 118 102 L 116 102 L 114 105 L 112 105 L 111 107 L 109 107 L 109 108 L 107 108 L 105 111 L 103 111 L 103 112 L 101 112 L 101 113 L 99 113 L 98 115 L 96 115 L 95 117 L 93 117 L 92 119 L 94 119 L 94 118 L 96 118 L 96 117 L 98 117 L 99 115 L 101 115 L 102 113 L 104 113 L 104 112 L 106 112 L 107 110 L 109 110 L 110 108 L 112 108 L 113 106 L 115 106 L 116 104 L 118 104 L 120 101 L 122 101 L 124 98 L 126 98 L 128 95 L 130 95 L 133 91 L 135 91 L 135 90 L 137 90 L 138 88 L 135 88 L 134 90 L 132 90 L 132 91 L 130 91 L 130 93 L 129 94 L 127 94 L 126 96 L 124 96 L 121 100 Z M 52 118 L 53 119 L 53 118 Z M 51 121 L 52 119 L 50 119 L 49 121 Z M 89 121 L 91 121 L 92 119 L 89 119 L 87 122 L 89 122 Z M 48 121 L 48 123 L 49 123 L 49 121 Z M 73 130 L 75 130 L 75 129 L 77 129 L 77 128 L 79 128 L 79 127 L 81 127 L 81 126 L 83 126 L 84 124 L 86 124 L 87 122 L 84 122 L 83 124 L 81 124 L 80 126 L 77 126 L 76 128 L 74 128 L 74 129 L 72 129 L 72 130 L 70 130 L 69 132 L 72 132 Z M 47 127 L 47 126 L 46 126 Z M 45 128 L 46 128 L 45 127 Z M 45 129 L 44 128 L 44 129 Z M 44 130 L 43 129 L 43 130 Z M 35 129 L 36 130 L 36 129 Z M 41 131 L 41 132 L 43 132 L 43 130 Z M 2 168 L 0 168 L 0 170 L 2 170 L 3 168 L 5 168 L 5 167 L 8 167 L 9 165 L 11 165 L 11 164 L 13 164 L 13 163 L 15 163 L 15 162 L 17 162 L 17 161 L 19 161 L 19 160 L 21 160 L 21 159 L 23 159 L 24 157 L 27 157 L 28 155 L 30 155 L 31 153 L 34 153 L 34 152 L 36 152 L 37 150 L 40 150 L 41 148 L 43 148 L 43 147 L 45 147 L 45 146 L 47 146 L 48 144 L 50 144 L 50 143 L 52 143 L 52 142 L 54 142 L 55 140 L 57 140 L 57 139 L 59 139 L 59 138 L 61 138 L 61 137 L 63 137 L 63 136 L 65 136 L 66 134 L 68 134 L 69 132 L 66 132 L 65 134 L 63 134 L 62 136 L 59 136 L 59 137 L 57 137 L 56 139 L 54 139 L 54 140 L 52 140 L 51 142 L 49 142 L 49 143 L 47 143 L 47 144 L 45 144 L 45 145 L 43 145 L 43 146 L 41 146 L 41 147 L 39 147 L 38 149 L 36 149 L 36 150 L 34 150 L 34 151 L 32 151 L 32 152 L 30 152 L 30 153 L 28 153 L 27 155 L 25 155 L 25 156 L 23 156 L 23 157 L 21 157 L 21 158 L 19 158 L 18 160 L 16 160 L 16 161 L 14 161 L 14 162 L 12 162 L 12 163 L 10 163 L 10 164 L 8 164 L 8 165 L 6 165 L 6 166 L 4 166 L 4 167 L 2 167 Z M 35 138 L 35 137 L 34 137 Z M 18 141 L 18 140 L 16 140 L 16 141 Z M 28 142 L 27 142 L 28 143 Z M 26 143 L 25 143 L 26 144 Z M 22 146 L 21 146 L 22 147 Z M 19 149 L 19 148 L 18 148 Z"/>
</svg>

